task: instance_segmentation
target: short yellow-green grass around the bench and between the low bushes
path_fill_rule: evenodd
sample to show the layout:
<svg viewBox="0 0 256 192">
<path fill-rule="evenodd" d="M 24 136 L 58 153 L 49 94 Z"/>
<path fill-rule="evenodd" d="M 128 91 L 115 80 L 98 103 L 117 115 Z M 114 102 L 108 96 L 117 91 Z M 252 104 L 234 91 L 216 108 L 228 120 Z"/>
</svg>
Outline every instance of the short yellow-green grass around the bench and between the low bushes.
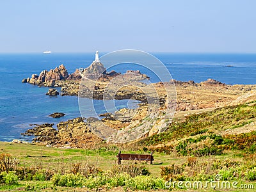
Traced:
<svg viewBox="0 0 256 192">
<path fill-rule="evenodd" d="M 103 171 L 109 170 L 111 167 L 117 164 L 116 154 L 118 154 L 118 148 L 113 150 L 107 150 L 101 148 L 98 150 L 85 150 L 85 149 L 64 149 L 64 148 L 49 148 L 40 145 L 32 144 L 17 144 L 17 143 L 7 143 L 0 142 L 1 153 L 11 154 L 13 157 L 19 159 L 20 167 L 35 166 L 42 169 L 52 169 L 57 172 L 67 172 L 72 169 L 72 164 L 81 163 L 84 166 L 89 164 L 94 164 Z M 122 153 L 136 153 L 145 154 L 150 152 L 143 151 L 124 151 Z M 245 162 L 244 157 L 240 155 L 240 150 L 225 150 L 224 154 L 221 156 L 204 156 L 198 158 L 200 162 L 207 161 L 225 161 L 227 159 L 232 159 L 232 161 Z M 145 162 L 134 162 L 134 161 L 122 161 L 122 164 L 138 164 L 144 165 L 153 177 L 161 177 L 161 167 L 170 166 L 175 163 L 178 166 L 188 162 L 188 157 L 186 156 L 174 156 L 173 154 L 163 154 L 156 152 L 154 153 L 154 163 L 149 164 Z M 238 182 L 237 186 L 241 184 L 253 185 L 254 189 L 225 189 L 225 191 L 254 191 L 256 188 L 256 182 L 249 182 L 244 179 L 232 179 Z M 252 187 L 252 186 L 249 186 Z M 27 180 L 20 181 L 19 184 L 14 184 L 11 186 L 2 184 L 0 186 L 1 191 L 84 191 L 85 188 L 68 188 L 65 186 L 54 186 L 51 180 L 47 181 L 35 181 Z M 92 189 L 93 190 L 93 189 Z M 96 190 L 96 189 L 94 189 Z M 102 190 L 107 190 L 102 188 Z M 122 187 L 116 187 L 108 189 L 110 191 L 124 191 Z M 167 189 L 166 189 L 167 190 Z M 175 188 L 173 190 L 184 190 L 193 191 L 193 189 L 180 189 Z M 127 189 L 129 191 L 129 189 Z M 160 191 L 163 191 L 161 189 Z M 165 191 L 165 190 L 164 190 Z M 207 189 L 200 189 L 200 191 L 216 191 L 210 187 Z M 220 189 L 220 191 L 223 191 Z"/>
</svg>

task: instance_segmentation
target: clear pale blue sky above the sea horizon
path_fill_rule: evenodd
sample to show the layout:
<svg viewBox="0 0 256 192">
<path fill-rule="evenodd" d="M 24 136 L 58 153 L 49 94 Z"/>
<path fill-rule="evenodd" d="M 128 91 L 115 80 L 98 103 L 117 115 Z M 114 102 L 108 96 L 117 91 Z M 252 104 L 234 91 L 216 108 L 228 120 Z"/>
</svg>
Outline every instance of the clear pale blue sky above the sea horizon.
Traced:
<svg viewBox="0 0 256 192">
<path fill-rule="evenodd" d="M 256 52 L 256 1 L 0 0 L 0 52 Z"/>
</svg>

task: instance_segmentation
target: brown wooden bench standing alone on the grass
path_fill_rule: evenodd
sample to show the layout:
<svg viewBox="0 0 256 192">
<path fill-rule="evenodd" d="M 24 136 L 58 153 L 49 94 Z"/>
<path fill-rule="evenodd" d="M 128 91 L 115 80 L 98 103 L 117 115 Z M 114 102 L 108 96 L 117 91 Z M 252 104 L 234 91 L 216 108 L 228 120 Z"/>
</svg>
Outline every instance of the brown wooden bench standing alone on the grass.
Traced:
<svg viewBox="0 0 256 192">
<path fill-rule="evenodd" d="M 141 155 L 141 154 L 121 154 L 121 151 L 120 151 L 116 157 L 118 159 L 118 164 L 121 164 L 122 160 L 150 161 L 150 164 L 152 164 L 154 161 L 152 152 L 150 155 Z"/>
</svg>

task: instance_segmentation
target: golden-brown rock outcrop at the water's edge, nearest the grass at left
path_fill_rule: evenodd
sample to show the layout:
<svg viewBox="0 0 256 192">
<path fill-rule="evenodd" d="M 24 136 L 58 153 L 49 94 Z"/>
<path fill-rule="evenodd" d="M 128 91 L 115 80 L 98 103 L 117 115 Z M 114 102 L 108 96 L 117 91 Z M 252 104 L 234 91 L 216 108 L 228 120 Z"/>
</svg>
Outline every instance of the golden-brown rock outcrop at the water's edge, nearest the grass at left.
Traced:
<svg viewBox="0 0 256 192">
<path fill-rule="evenodd" d="M 52 128 L 53 125 L 36 125 L 36 127 L 28 129 L 22 135 L 34 135 L 33 142 L 44 143 L 51 147 L 93 148 L 102 141 L 90 132 L 83 118 L 74 118 L 67 122 L 60 122 L 57 124 L 58 130 Z"/>
</svg>

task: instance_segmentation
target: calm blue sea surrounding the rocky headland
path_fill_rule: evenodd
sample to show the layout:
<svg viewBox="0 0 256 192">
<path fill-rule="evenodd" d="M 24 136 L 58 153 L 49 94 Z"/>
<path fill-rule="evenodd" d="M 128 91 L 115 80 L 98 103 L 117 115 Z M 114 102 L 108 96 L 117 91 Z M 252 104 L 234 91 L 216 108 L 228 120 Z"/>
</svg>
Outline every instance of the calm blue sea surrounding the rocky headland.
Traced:
<svg viewBox="0 0 256 192">
<path fill-rule="evenodd" d="M 179 81 L 200 83 L 211 78 L 227 84 L 256 84 L 256 54 L 152 54 L 164 63 L 173 79 Z M 94 53 L 0 54 L 0 141 L 31 141 L 30 137 L 20 135 L 31 129 L 31 124 L 56 125 L 60 121 L 81 116 L 77 97 L 49 97 L 45 95 L 48 88 L 21 83 L 21 80 L 61 64 L 65 65 L 68 73 L 72 73 L 76 68 L 88 67 L 93 60 Z M 135 65 L 130 69 L 152 75 Z M 115 70 L 124 72 L 121 67 Z M 117 105 L 124 108 L 127 101 L 118 102 Z M 103 113 L 100 102 L 97 106 L 99 113 Z M 49 117 L 54 112 L 62 112 L 66 116 L 57 119 Z"/>
</svg>

